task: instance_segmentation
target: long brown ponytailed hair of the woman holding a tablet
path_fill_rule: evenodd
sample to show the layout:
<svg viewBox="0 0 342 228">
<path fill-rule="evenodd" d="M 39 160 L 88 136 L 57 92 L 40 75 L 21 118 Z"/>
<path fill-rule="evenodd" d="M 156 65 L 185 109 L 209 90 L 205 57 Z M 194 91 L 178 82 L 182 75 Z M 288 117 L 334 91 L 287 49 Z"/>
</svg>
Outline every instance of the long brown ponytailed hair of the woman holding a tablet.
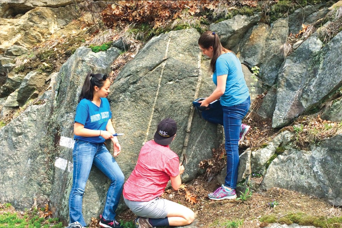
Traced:
<svg viewBox="0 0 342 228">
<path fill-rule="evenodd" d="M 214 72 L 216 59 L 221 55 L 222 51 L 225 50 L 220 42 L 219 36 L 215 32 L 206 31 L 199 37 L 198 45 L 204 49 L 209 49 L 210 46 L 213 47 L 213 57 L 210 61 L 210 69 Z"/>
</svg>

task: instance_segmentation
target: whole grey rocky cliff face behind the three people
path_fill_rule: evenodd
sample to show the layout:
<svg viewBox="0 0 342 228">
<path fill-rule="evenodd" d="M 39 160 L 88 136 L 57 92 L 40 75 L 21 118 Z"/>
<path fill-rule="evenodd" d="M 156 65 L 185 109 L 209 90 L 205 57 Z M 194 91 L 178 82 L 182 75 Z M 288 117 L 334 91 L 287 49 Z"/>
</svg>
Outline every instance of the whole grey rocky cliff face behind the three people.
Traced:
<svg viewBox="0 0 342 228">
<path fill-rule="evenodd" d="M 22 8 L 17 10 L 22 9 L 25 14 L 7 18 L 5 15 L 15 13 L 18 3 Z M 78 95 L 87 73 L 108 73 L 123 50 L 112 47 L 94 53 L 81 47 L 59 72 L 14 72 L 16 56 L 26 53 L 32 42 L 62 31 L 73 19 L 69 12 L 74 6 L 68 1 L 46 4 L 0 1 L 0 23 L 4 25 L 0 29 L 3 34 L 0 76 L 5 72 L 5 76 L 0 77 L 1 117 L 27 105 L 28 100 L 39 96 L 38 91 L 48 88 L 34 104 L 0 129 L 3 159 L 0 201 L 23 209 L 30 207 L 36 198 L 41 205 L 49 202 L 55 215 L 67 220 L 73 170 L 73 120 Z M 315 10 L 305 8 L 307 15 L 301 20 L 310 23 L 328 12 L 323 5 L 317 7 Z M 341 32 L 327 44 L 314 33 L 285 60 L 280 55 L 280 45 L 286 42 L 289 32 L 299 26 L 297 17 L 298 12 L 267 25 L 258 23 L 260 15 L 235 16 L 210 26 L 226 47 L 236 51 L 246 81 L 250 81 L 251 67 L 261 68 L 260 80 L 264 86 L 252 92 L 252 98 L 268 90 L 259 114 L 272 118 L 273 128 L 287 126 L 294 118 L 324 102 L 342 85 Z M 194 29 L 183 29 L 153 37 L 111 85 L 108 99 L 112 121 L 117 132 L 125 133 L 119 139 L 122 153 L 117 161 L 126 178 L 134 168 L 141 146 L 153 138 L 163 118 L 174 118 L 178 124 L 171 149 L 189 158 L 183 181 L 196 177 L 201 172 L 198 163 L 210 158 L 211 149 L 222 142 L 221 127 L 200 119 L 191 106 L 192 100 L 206 97 L 214 89 L 207 73 L 209 60 L 202 57 L 197 45 L 199 36 Z M 273 87 L 270 89 L 267 85 Z M 341 121 L 340 109 L 340 100 L 336 100 L 324 110 L 324 115 L 327 119 Z M 258 190 L 271 187 L 296 190 L 341 205 L 341 135 L 308 151 L 295 148 L 292 137 L 292 133 L 284 131 L 265 148 L 242 153 L 239 182 Z M 284 151 L 277 152 L 279 147 L 284 147 Z M 110 143 L 108 149 L 111 149 Z M 255 172 L 263 175 L 262 183 L 255 183 L 251 178 L 251 173 Z M 224 176 L 225 170 L 219 182 Z M 83 212 L 88 221 L 101 213 L 107 188 L 108 180 L 94 167 L 83 200 Z M 121 203 L 120 208 L 123 207 Z"/>
</svg>

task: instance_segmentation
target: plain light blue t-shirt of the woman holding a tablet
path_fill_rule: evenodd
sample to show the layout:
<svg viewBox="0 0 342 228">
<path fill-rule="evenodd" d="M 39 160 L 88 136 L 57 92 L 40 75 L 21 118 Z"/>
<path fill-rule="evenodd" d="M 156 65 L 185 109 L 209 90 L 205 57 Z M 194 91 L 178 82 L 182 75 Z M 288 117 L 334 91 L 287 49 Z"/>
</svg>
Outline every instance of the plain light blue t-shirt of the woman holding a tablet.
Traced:
<svg viewBox="0 0 342 228">
<path fill-rule="evenodd" d="M 220 98 L 223 106 L 233 106 L 244 102 L 249 97 L 248 87 L 242 73 L 241 63 L 234 53 L 228 52 L 216 59 L 213 82 L 217 86 L 217 76 L 228 75 L 226 90 Z"/>
</svg>

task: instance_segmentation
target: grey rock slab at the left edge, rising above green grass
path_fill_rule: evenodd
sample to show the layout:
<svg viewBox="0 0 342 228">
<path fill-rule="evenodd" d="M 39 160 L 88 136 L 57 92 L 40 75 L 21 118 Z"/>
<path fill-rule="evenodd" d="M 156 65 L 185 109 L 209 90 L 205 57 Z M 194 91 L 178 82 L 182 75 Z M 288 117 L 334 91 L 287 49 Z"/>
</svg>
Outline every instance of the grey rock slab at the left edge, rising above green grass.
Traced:
<svg viewBox="0 0 342 228">
<path fill-rule="evenodd" d="M 49 202 L 53 169 L 45 150 L 49 105 L 33 105 L 0 129 L 0 201 L 17 209 Z"/>
</svg>

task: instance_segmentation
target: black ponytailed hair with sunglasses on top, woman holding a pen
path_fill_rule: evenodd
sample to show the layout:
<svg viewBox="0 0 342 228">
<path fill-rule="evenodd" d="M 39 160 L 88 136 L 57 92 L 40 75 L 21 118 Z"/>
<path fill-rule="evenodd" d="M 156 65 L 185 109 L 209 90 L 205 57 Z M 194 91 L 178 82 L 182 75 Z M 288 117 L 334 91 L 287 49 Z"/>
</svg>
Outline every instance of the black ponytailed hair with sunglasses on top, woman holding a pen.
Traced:
<svg viewBox="0 0 342 228">
<path fill-rule="evenodd" d="M 94 86 L 96 85 L 98 88 L 101 88 L 107 79 L 107 75 L 103 73 L 88 73 L 86 79 L 84 80 L 81 94 L 78 97 L 78 103 L 86 98 L 88 100 L 92 100 L 94 96 Z"/>
</svg>

